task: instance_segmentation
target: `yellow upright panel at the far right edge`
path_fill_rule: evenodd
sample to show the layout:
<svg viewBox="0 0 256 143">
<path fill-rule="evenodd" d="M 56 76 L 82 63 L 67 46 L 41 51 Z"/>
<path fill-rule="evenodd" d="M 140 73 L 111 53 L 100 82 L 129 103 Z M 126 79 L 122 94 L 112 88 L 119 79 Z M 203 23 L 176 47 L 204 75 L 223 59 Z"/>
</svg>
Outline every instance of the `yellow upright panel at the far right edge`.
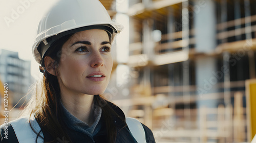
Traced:
<svg viewBox="0 0 256 143">
<path fill-rule="evenodd" d="M 256 134 L 256 79 L 245 81 L 247 138 L 250 142 Z"/>
</svg>

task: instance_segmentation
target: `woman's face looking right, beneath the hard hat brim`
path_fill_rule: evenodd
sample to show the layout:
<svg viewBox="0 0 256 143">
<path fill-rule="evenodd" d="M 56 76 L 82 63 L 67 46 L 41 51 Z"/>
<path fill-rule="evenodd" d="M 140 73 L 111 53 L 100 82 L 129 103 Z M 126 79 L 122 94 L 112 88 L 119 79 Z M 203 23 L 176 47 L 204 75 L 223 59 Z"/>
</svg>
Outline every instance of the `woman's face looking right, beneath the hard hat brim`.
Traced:
<svg viewBox="0 0 256 143">
<path fill-rule="evenodd" d="M 75 33 L 62 46 L 58 66 L 61 93 L 101 94 L 112 70 L 111 43 L 104 30 Z"/>
</svg>

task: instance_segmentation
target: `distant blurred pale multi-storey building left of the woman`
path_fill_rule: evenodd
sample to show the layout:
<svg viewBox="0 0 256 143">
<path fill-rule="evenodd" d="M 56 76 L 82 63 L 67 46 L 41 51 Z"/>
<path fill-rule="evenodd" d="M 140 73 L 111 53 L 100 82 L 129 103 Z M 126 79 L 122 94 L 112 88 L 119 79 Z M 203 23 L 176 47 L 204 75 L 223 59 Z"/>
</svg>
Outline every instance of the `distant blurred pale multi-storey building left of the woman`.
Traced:
<svg viewBox="0 0 256 143">
<path fill-rule="evenodd" d="M 30 61 L 19 59 L 17 52 L 1 50 L 0 80 L 2 83 L 8 83 L 9 98 L 12 99 L 12 105 L 16 105 L 34 82 L 30 74 Z M 26 103 L 29 98 L 30 96 L 27 97 Z M 20 107 L 24 101 L 25 99 L 21 100 L 16 107 Z"/>
</svg>

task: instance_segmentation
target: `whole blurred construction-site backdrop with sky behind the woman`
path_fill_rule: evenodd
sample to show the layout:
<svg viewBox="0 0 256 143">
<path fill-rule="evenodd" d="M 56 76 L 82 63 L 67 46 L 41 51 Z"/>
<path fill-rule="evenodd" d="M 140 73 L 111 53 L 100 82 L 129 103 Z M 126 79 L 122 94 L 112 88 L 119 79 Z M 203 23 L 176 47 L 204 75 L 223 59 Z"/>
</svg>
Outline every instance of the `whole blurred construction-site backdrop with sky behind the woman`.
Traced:
<svg viewBox="0 0 256 143">
<path fill-rule="evenodd" d="M 113 44 L 107 99 L 152 129 L 156 142 L 251 141 L 256 133 L 256 1 L 100 2 L 125 27 Z M 1 124 L 4 84 L 8 111 L 17 104 L 9 112 L 11 121 L 42 76 L 31 47 L 38 15 L 53 3 L 1 2 Z"/>
</svg>

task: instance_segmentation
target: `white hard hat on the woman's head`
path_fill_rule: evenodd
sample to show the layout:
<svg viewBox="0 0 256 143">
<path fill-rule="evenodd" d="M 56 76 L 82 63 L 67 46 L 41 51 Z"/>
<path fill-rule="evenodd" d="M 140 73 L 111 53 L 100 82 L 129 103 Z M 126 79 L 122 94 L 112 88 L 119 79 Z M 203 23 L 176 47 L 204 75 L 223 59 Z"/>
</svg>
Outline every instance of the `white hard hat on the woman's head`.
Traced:
<svg viewBox="0 0 256 143">
<path fill-rule="evenodd" d="M 111 20 L 110 15 L 98 0 L 59 0 L 42 17 L 37 27 L 37 35 L 32 47 L 35 60 L 41 63 L 51 43 L 58 38 L 87 30 L 90 26 L 100 26 L 110 31 L 112 41 L 123 29 L 122 25 Z"/>
</svg>

